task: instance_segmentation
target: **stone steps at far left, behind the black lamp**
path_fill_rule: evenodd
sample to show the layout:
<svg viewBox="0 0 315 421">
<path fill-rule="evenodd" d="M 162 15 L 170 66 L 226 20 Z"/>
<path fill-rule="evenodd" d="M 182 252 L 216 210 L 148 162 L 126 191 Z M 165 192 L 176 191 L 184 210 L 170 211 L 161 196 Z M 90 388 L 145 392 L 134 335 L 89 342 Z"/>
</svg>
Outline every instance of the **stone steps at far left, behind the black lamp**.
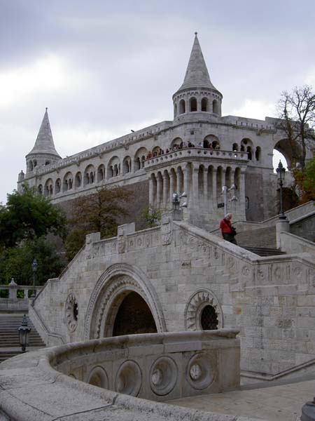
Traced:
<svg viewBox="0 0 315 421">
<path fill-rule="evenodd" d="M 22 323 L 22 313 L 1 313 L 0 314 L 0 363 L 6 359 L 21 354 L 22 349 L 19 343 L 18 328 Z M 27 351 L 45 347 L 33 323 L 27 318 L 29 333 L 29 346 Z"/>
</svg>

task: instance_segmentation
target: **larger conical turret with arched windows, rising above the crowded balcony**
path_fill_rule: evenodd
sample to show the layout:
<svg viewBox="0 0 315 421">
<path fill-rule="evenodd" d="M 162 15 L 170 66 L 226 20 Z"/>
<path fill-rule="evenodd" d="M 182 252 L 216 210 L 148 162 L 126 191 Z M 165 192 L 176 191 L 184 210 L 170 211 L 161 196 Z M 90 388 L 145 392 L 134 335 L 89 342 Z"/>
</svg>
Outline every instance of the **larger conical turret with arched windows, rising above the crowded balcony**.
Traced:
<svg viewBox="0 0 315 421">
<path fill-rule="evenodd" d="M 188 112 L 221 116 L 222 94 L 211 82 L 197 32 L 183 84 L 173 95 L 174 118 Z"/>
</svg>

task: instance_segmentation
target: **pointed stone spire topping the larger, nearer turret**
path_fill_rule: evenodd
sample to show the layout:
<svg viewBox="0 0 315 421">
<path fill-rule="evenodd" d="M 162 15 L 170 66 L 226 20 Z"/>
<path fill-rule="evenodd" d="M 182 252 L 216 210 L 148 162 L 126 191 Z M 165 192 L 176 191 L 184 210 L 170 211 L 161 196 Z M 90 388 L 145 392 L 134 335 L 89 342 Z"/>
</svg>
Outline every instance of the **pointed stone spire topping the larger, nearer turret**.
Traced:
<svg viewBox="0 0 315 421">
<path fill-rule="evenodd" d="M 195 40 L 193 49 L 190 53 L 185 79 L 183 85 L 179 88 L 179 91 L 186 88 L 210 88 L 216 90 L 211 83 L 207 65 L 204 62 L 204 56 L 202 54 L 202 49 L 200 48 L 197 32 L 195 32 Z"/>
</svg>

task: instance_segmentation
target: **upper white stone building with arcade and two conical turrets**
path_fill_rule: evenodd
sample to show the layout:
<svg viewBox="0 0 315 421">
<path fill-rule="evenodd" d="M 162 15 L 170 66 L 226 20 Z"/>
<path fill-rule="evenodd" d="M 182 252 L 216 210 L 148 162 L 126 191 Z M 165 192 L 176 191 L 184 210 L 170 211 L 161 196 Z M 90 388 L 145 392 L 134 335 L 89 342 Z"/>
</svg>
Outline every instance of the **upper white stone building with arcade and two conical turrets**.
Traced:
<svg viewBox="0 0 315 421">
<path fill-rule="evenodd" d="M 224 212 L 217 207 L 223 201 L 223 185 L 234 184 L 237 201 L 229 209 L 234 219 L 264 220 L 274 215 L 273 149 L 279 149 L 290 163 L 283 133 L 276 130 L 272 118 L 222 116 L 223 95 L 211 82 L 197 33 L 183 84 L 172 99 L 172 121 L 64 159 L 55 149 L 46 109 L 18 187 L 27 181 L 59 203 L 101 185 L 130 185 L 135 192 L 144 192 L 146 204 L 164 210 L 172 207 L 174 192 L 185 191 L 187 220 L 211 229 Z"/>
</svg>

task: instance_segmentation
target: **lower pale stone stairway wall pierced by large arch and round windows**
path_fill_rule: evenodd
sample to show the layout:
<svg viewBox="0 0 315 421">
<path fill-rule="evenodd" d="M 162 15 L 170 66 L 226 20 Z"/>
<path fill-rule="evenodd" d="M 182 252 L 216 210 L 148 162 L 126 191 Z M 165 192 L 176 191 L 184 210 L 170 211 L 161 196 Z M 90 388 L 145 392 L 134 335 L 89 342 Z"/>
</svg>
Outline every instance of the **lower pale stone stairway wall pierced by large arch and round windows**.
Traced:
<svg viewBox="0 0 315 421">
<path fill-rule="evenodd" d="M 148 304 L 158 332 L 200 330 L 210 305 L 218 328 L 240 329 L 242 370 L 273 376 L 314 359 L 314 279 L 308 255 L 259 258 L 164 218 L 161 227 L 125 227 L 113 239 L 87 236 L 60 280 L 48 281 L 38 295 L 34 313 L 50 334 L 74 342 L 111 336 L 131 291 Z M 30 312 L 35 325 L 36 314 Z M 50 335 L 48 343 L 58 341 Z"/>
</svg>

